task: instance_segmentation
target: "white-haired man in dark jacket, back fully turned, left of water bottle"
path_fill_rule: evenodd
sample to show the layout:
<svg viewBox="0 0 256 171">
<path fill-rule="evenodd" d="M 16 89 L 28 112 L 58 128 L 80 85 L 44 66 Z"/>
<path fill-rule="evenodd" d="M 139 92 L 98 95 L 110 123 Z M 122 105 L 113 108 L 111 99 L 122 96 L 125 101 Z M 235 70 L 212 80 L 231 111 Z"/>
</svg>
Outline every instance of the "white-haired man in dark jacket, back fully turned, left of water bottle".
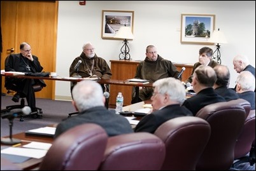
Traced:
<svg viewBox="0 0 256 171">
<path fill-rule="evenodd" d="M 61 121 L 56 128 L 55 138 L 83 123 L 96 123 L 106 130 L 108 136 L 132 133 L 132 127 L 124 116 L 115 114 L 104 107 L 105 97 L 101 85 L 96 81 L 83 80 L 73 90 L 73 106 L 78 115 Z"/>
</svg>

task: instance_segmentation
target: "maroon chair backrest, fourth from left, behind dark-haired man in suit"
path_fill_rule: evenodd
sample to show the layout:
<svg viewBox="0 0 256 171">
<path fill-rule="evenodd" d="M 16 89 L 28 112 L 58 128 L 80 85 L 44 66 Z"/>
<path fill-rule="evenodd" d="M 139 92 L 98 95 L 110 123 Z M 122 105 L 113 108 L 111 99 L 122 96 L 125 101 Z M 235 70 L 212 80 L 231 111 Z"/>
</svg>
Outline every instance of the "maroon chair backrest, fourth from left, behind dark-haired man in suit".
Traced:
<svg viewBox="0 0 256 171">
<path fill-rule="evenodd" d="M 218 102 L 203 107 L 197 117 L 208 121 L 211 137 L 197 162 L 196 170 L 227 170 L 234 161 L 234 146 L 245 123 L 244 107 Z"/>
</svg>

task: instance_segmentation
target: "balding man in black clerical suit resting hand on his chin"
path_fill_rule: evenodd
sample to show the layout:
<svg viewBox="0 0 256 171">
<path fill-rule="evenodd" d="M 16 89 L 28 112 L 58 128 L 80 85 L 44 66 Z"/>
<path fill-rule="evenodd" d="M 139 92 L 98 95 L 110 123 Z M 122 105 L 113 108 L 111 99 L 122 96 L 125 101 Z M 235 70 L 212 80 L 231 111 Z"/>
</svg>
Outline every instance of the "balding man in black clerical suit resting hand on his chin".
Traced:
<svg viewBox="0 0 256 171">
<path fill-rule="evenodd" d="M 41 72 L 43 67 L 40 65 L 38 57 L 32 55 L 31 46 L 28 43 L 20 44 L 20 53 L 10 54 L 6 58 L 5 71 L 16 72 Z M 17 93 L 13 96 L 13 101 L 18 102 L 21 93 L 25 95 L 27 99 L 27 105 L 31 107 L 31 111 L 36 111 L 36 97 L 32 85 L 35 83 L 41 83 L 42 86 L 46 86 L 42 79 L 26 79 L 26 78 L 8 78 L 5 79 L 5 87 L 10 90 L 14 90 Z"/>
</svg>

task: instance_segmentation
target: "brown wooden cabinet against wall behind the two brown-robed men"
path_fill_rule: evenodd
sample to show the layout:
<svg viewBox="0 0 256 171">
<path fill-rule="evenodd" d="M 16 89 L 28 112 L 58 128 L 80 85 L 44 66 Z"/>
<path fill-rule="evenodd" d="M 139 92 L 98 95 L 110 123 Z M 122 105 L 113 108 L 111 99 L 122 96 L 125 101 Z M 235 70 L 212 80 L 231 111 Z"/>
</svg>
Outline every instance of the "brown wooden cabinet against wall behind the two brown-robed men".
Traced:
<svg viewBox="0 0 256 171">
<path fill-rule="evenodd" d="M 136 68 L 140 61 L 134 60 L 110 60 L 111 62 L 111 79 L 126 80 L 134 78 L 136 74 Z M 192 64 L 180 64 L 174 63 L 178 71 L 181 71 L 182 67 L 185 67 L 185 71 L 182 74 L 182 81 L 186 80 L 192 73 Z M 118 92 L 122 92 L 124 96 L 124 106 L 130 105 L 132 100 L 132 87 L 131 86 L 117 86 L 110 85 L 110 107 L 115 106 L 115 100 Z"/>
</svg>

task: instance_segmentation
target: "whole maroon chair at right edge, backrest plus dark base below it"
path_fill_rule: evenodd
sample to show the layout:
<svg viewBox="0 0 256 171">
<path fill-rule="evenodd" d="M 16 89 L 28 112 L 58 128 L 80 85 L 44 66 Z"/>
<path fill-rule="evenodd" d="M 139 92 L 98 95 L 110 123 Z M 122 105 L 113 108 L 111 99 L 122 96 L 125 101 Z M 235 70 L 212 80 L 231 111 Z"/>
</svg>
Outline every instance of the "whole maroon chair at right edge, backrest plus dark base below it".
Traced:
<svg viewBox="0 0 256 171">
<path fill-rule="evenodd" d="M 249 156 L 246 156 L 248 153 L 250 153 Z M 253 165 L 255 163 L 255 159 L 253 161 L 253 153 L 255 158 L 255 110 L 250 111 L 248 114 L 245 120 L 245 125 L 243 126 L 243 130 L 236 141 L 234 159 L 238 161 L 234 163 L 233 167 L 246 162 Z"/>
</svg>

